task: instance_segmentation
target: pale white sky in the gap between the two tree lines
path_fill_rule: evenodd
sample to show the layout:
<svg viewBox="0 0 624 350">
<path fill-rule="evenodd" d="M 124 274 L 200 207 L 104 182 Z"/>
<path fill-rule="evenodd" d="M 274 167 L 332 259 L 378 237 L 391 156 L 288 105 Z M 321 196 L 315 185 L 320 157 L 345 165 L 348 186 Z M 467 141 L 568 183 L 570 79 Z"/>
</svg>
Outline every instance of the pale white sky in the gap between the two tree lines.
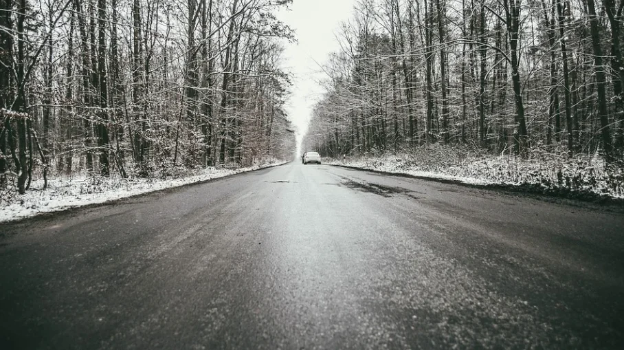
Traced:
<svg viewBox="0 0 624 350">
<path fill-rule="evenodd" d="M 323 93 L 317 84 L 324 78 L 319 65 L 339 50 L 336 36 L 340 24 L 351 17 L 355 3 L 356 0 L 293 0 L 289 10 L 277 14 L 278 19 L 295 30 L 298 40 L 286 44 L 282 63 L 294 76 L 287 113 L 299 131 L 298 141 L 307 129 L 314 102 Z"/>
</svg>

